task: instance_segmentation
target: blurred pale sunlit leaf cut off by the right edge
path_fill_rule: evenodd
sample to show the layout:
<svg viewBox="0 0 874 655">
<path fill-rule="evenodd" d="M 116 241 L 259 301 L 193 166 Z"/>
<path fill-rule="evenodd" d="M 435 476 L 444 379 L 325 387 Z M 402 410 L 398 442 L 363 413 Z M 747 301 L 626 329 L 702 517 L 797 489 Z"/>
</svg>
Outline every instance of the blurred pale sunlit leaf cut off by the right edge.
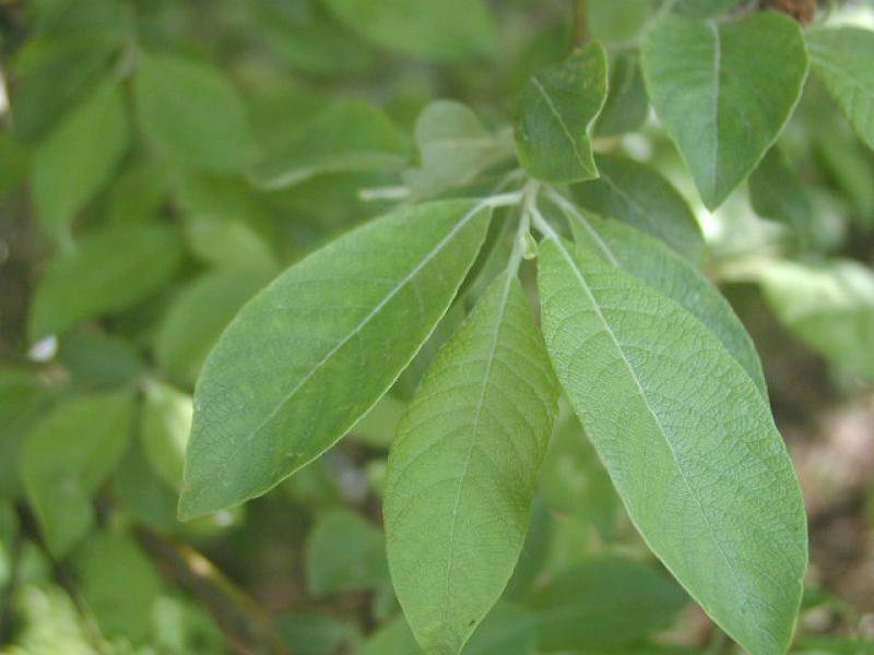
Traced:
<svg viewBox="0 0 874 655">
<path fill-rule="evenodd" d="M 849 260 L 769 262 L 760 282 L 780 321 L 829 360 L 874 380 L 874 273 Z"/>
</svg>

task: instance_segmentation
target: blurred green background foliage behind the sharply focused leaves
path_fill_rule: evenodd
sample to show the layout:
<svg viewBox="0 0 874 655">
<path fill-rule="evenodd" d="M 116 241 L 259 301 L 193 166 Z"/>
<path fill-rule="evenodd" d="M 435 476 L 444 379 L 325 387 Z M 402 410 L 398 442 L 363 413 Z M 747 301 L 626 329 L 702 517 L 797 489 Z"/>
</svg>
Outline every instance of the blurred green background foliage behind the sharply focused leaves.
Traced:
<svg viewBox="0 0 874 655">
<path fill-rule="evenodd" d="M 597 150 L 682 191 L 706 270 L 761 353 L 810 513 L 798 652 L 874 653 L 874 154 L 812 79 L 779 150 L 708 213 L 640 81 L 637 35 L 659 4 L 0 2 L 2 652 L 418 652 L 388 579 L 382 476 L 463 312 L 351 439 L 245 508 L 180 524 L 193 384 L 284 266 L 410 193 L 446 193 L 441 175 L 459 181 L 428 150 L 428 111 L 483 135 L 473 181 L 512 156 L 523 82 L 592 36 L 623 90 Z M 874 26 L 861 1 L 673 11 L 759 4 Z M 564 412 L 522 560 L 464 653 L 731 650 L 648 555 Z"/>
</svg>

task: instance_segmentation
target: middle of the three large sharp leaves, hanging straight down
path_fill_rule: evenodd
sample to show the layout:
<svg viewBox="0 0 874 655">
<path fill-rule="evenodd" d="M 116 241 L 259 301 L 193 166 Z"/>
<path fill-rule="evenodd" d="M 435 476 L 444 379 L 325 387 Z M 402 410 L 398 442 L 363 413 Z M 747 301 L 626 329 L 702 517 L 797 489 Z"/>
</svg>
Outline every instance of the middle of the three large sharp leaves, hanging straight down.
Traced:
<svg viewBox="0 0 874 655">
<path fill-rule="evenodd" d="M 389 564 L 428 655 L 461 652 L 504 592 L 557 397 L 522 287 L 505 271 L 429 367 L 389 456 Z"/>
</svg>

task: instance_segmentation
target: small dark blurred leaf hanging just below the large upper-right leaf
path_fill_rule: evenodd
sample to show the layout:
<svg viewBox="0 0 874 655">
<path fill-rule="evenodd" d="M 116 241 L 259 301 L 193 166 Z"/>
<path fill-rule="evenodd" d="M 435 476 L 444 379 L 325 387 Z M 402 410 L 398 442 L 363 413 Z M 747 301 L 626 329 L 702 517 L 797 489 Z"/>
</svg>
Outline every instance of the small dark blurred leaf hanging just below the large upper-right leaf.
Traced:
<svg viewBox="0 0 874 655">
<path fill-rule="evenodd" d="M 788 226 L 802 243 L 807 240 L 814 222 L 813 205 L 777 146 L 768 151 L 749 176 L 749 203 L 763 218 Z"/>
</svg>

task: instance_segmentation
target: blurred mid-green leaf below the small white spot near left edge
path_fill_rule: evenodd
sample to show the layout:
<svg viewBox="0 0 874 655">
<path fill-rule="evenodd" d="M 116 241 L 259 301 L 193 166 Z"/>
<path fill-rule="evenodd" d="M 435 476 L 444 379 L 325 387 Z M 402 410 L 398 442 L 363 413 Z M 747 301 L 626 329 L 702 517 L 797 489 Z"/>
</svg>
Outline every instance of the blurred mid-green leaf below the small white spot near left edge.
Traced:
<svg viewBox="0 0 874 655">
<path fill-rule="evenodd" d="M 51 552 L 61 557 L 91 529 L 91 497 L 125 453 L 133 403 L 128 393 L 73 398 L 27 438 L 22 477 Z"/>
</svg>

